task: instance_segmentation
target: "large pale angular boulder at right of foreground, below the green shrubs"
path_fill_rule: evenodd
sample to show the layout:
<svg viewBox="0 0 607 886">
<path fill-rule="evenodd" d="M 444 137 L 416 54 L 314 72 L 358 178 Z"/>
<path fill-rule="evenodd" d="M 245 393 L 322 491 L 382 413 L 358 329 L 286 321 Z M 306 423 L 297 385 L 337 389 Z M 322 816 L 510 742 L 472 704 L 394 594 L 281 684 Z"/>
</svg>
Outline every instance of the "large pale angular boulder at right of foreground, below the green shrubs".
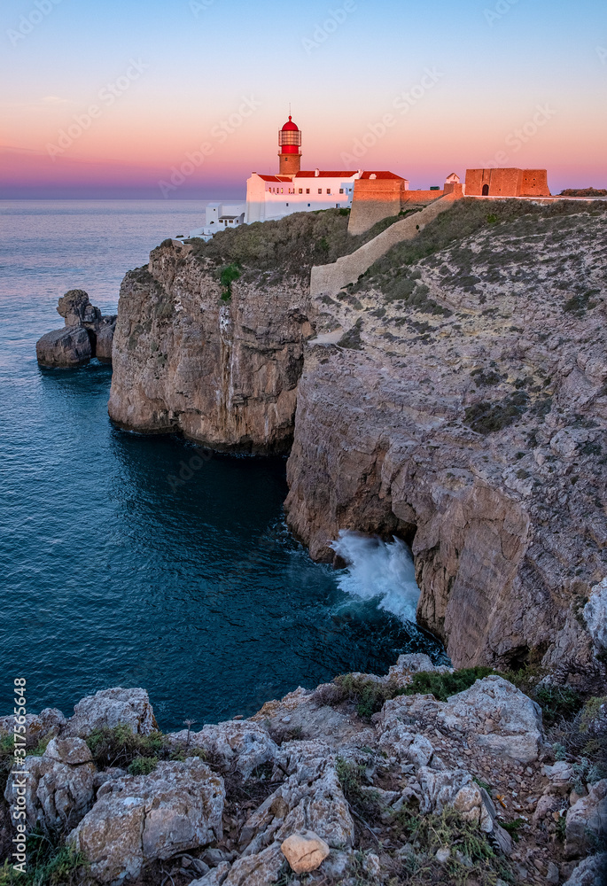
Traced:
<svg viewBox="0 0 607 886">
<path fill-rule="evenodd" d="M 438 719 L 444 727 L 466 734 L 469 741 L 498 756 L 520 763 L 538 758 L 541 708 L 496 674 L 449 698 Z"/>
</svg>

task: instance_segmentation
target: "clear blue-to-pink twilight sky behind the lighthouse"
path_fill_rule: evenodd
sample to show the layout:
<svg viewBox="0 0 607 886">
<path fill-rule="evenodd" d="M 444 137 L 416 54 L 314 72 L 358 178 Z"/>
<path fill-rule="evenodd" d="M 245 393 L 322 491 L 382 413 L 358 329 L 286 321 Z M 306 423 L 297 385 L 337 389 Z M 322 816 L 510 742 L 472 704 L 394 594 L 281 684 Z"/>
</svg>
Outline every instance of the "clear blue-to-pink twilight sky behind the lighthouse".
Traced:
<svg viewBox="0 0 607 886">
<path fill-rule="evenodd" d="M 277 171 L 607 187 L 604 0 L 5 0 L 0 198 L 244 198 Z"/>
</svg>

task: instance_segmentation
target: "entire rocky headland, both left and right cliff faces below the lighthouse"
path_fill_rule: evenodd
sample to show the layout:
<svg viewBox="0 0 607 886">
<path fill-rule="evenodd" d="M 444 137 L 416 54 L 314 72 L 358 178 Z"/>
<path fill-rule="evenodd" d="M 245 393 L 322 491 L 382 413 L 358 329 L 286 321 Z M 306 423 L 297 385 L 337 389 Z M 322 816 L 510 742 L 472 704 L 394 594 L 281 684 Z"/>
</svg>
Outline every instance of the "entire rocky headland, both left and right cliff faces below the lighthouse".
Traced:
<svg viewBox="0 0 607 886">
<path fill-rule="evenodd" d="M 163 245 L 122 287 L 110 414 L 216 448 L 293 438 L 312 556 L 397 532 L 455 664 L 550 662 L 589 652 L 607 573 L 607 220 L 471 205 L 335 298 L 293 276 L 223 302 L 210 261 Z"/>
</svg>

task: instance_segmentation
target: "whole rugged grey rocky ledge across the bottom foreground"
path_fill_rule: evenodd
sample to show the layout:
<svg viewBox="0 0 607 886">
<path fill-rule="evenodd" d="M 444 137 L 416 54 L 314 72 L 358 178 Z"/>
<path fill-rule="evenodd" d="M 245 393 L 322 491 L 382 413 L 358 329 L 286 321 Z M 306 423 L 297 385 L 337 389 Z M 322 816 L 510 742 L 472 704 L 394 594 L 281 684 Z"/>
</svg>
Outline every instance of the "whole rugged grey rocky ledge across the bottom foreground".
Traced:
<svg viewBox="0 0 607 886">
<path fill-rule="evenodd" d="M 411 870 L 431 872 L 432 882 L 600 882 L 602 857 L 583 860 L 607 838 L 600 757 L 581 768 L 555 760 L 537 705 L 495 674 L 446 702 L 398 695 L 420 668 L 445 685 L 453 679 L 420 655 L 401 656 L 385 677 L 350 675 L 354 689 L 387 693 L 371 722 L 341 680 L 190 734 L 156 732 L 144 689 L 98 692 L 71 719 L 29 715 L 29 743 L 50 741 L 26 760 L 27 826 L 81 852 L 90 886 L 167 875 L 182 886 L 184 872 L 196 886 L 268 886 L 301 874 L 308 886 L 388 886 Z M 599 747 L 604 699 L 582 714 L 582 741 L 592 736 Z M 299 737 L 285 731 L 291 724 Z M 0 730 L 10 728 L 0 719 Z M 131 773 L 105 750 L 95 751 L 97 771 L 84 738 L 95 749 L 100 730 L 123 748 Z M 138 756 L 152 747 L 160 759 Z M 10 776 L 0 804 L 9 833 L 17 789 Z"/>
</svg>

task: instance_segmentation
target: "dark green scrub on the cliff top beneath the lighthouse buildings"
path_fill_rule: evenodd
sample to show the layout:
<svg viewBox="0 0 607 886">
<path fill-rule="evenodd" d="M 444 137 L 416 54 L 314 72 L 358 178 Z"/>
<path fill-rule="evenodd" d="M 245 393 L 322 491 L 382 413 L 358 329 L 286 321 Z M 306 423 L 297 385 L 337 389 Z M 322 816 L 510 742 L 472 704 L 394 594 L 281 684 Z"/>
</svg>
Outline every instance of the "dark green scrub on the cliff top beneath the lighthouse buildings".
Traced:
<svg viewBox="0 0 607 886">
<path fill-rule="evenodd" d="M 255 221 L 233 230 L 222 230 L 208 243 L 198 238 L 187 242 L 193 246 L 198 259 L 224 266 L 236 264 L 243 268 L 245 279 L 266 272 L 268 282 L 278 282 L 284 277 L 307 280 L 313 265 L 353 253 L 395 221 L 400 221 L 404 214 L 378 221 L 357 237 L 347 232 L 348 217 L 349 214 L 340 209 L 295 213 L 280 221 Z"/>
</svg>

